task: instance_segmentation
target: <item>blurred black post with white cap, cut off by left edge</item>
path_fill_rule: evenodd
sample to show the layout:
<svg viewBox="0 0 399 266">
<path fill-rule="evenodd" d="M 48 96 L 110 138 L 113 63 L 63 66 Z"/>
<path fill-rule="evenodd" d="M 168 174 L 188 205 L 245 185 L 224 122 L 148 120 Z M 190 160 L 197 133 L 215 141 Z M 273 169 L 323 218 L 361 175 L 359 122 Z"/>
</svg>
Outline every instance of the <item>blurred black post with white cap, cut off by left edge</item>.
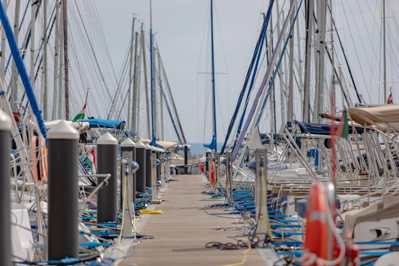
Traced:
<svg viewBox="0 0 399 266">
<path fill-rule="evenodd" d="M 0 109 L 0 265 L 11 265 L 10 149 L 11 119 Z"/>
</svg>

